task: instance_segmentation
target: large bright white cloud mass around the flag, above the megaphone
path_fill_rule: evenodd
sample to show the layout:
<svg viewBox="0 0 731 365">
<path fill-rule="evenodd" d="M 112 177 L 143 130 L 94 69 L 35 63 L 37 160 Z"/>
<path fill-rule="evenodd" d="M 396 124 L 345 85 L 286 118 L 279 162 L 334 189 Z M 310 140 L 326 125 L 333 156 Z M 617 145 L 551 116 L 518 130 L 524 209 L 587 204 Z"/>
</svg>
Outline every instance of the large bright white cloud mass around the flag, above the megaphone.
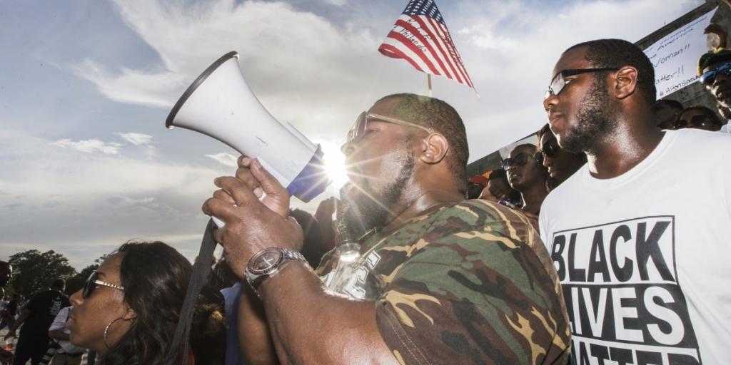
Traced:
<svg viewBox="0 0 731 365">
<path fill-rule="evenodd" d="M 471 160 L 480 158 L 545 123 L 546 79 L 567 47 L 609 37 L 635 41 L 699 1 L 575 1 L 562 7 L 537 7 L 527 0 L 459 1 L 442 13 L 449 16 L 448 25 L 461 25 L 452 36 L 482 99 L 444 77 L 434 78 L 434 96 L 460 112 Z M 246 81 L 262 104 L 310 139 L 342 141 L 350 124 L 344 120 L 388 93 L 427 93 L 424 74 L 376 51 L 398 14 L 382 14 L 363 28 L 357 18 L 363 14 L 357 12 L 336 25 L 282 2 L 211 0 L 183 6 L 116 0 L 115 5 L 161 61 L 144 69 L 110 70 L 91 60 L 74 66 L 117 101 L 170 107 L 203 69 L 230 50 L 240 53 Z M 246 31 L 239 31 L 242 27 Z"/>
</svg>

